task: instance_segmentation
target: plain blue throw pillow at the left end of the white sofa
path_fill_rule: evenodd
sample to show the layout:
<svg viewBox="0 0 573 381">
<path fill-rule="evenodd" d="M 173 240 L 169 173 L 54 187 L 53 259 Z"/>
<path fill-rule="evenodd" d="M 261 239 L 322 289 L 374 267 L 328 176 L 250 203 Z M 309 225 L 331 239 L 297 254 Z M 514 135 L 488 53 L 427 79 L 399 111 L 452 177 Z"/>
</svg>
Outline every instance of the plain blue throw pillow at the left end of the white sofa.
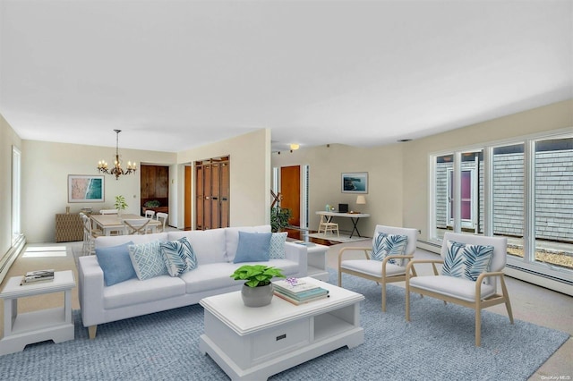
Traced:
<svg viewBox="0 0 573 381">
<path fill-rule="evenodd" d="M 129 245 L 133 245 L 133 241 L 119 246 L 96 248 L 96 258 L 98 258 L 99 267 L 104 272 L 104 282 L 107 286 L 137 276 L 129 256 Z"/>
</svg>

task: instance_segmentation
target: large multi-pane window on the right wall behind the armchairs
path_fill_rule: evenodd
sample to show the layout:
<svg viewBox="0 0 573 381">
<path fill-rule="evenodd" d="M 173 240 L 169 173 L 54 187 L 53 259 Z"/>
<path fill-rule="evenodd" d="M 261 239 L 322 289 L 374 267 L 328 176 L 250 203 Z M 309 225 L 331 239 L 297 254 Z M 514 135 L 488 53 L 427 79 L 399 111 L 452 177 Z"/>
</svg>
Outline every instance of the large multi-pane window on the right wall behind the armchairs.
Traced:
<svg viewBox="0 0 573 381">
<path fill-rule="evenodd" d="M 521 139 L 431 157 L 433 240 L 508 237 L 508 264 L 573 281 L 573 135 Z"/>
</svg>

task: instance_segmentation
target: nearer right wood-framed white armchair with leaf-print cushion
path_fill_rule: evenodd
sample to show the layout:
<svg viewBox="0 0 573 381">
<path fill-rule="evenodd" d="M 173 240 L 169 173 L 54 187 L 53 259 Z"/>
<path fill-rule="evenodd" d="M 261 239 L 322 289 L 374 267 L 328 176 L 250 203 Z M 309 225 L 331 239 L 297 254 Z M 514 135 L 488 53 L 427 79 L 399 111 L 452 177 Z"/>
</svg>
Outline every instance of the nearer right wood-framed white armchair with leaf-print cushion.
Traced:
<svg viewBox="0 0 573 381">
<path fill-rule="evenodd" d="M 410 321 L 410 292 L 415 292 L 474 309 L 475 346 L 480 346 L 482 341 L 482 309 L 504 303 L 509 322 L 513 324 L 509 293 L 503 278 L 507 247 L 506 237 L 444 233 L 441 259 L 412 260 L 407 265 L 406 320 Z M 432 264 L 433 275 L 417 276 L 415 267 L 422 264 Z M 442 265 L 441 272 L 436 265 Z M 498 282 L 501 293 L 498 293 Z"/>
</svg>

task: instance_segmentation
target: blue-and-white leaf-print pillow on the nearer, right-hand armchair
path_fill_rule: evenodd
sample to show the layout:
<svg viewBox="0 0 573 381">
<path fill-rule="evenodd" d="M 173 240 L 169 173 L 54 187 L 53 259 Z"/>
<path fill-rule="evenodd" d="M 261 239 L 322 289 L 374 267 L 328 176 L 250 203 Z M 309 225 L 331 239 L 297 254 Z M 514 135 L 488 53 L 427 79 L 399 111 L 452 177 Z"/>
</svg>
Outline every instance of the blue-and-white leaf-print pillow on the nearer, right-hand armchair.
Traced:
<svg viewBox="0 0 573 381">
<path fill-rule="evenodd" d="M 466 245 L 448 241 L 448 252 L 441 267 L 441 275 L 465 278 L 475 282 L 477 277 L 490 270 L 493 246 Z"/>
</svg>

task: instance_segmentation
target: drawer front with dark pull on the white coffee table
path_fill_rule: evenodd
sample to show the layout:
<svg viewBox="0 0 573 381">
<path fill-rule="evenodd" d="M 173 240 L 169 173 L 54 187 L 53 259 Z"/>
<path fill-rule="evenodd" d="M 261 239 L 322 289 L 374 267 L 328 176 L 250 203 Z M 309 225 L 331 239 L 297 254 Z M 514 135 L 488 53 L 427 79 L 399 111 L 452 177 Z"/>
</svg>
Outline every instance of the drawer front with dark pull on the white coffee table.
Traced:
<svg viewBox="0 0 573 381">
<path fill-rule="evenodd" d="M 252 338 L 252 362 L 276 357 L 280 352 L 309 343 L 310 318 L 269 328 Z"/>
</svg>

